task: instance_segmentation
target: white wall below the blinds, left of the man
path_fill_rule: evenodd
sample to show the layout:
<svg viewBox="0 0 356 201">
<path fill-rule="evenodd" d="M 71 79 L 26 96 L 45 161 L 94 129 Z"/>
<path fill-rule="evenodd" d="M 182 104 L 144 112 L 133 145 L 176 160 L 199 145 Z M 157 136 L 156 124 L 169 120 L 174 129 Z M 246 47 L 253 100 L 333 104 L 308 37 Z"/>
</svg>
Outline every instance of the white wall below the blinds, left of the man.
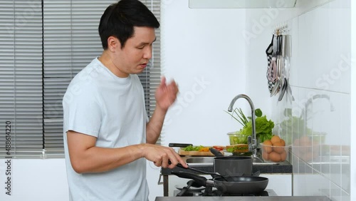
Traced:
<svg viewBox="0 0 356 201">
<path fill-rule="evenodd" d="M 64 159 L 11 159 L 0 160 L 0 200 L 4 201 L 66 201 L 68 185 Z M 11 172 L 11 175 L 6 175 Z M 7 177 L 11 177 L 11 189 Z M 11 191 L 11 195 L 6 192 Z"/>
</svg>

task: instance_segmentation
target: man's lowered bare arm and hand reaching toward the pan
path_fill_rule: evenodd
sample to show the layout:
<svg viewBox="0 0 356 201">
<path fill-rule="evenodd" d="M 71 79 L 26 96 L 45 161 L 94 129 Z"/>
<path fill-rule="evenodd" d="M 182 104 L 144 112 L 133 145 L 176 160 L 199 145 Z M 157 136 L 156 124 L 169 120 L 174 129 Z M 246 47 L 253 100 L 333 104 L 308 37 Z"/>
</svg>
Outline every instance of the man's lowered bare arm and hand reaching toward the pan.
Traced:
<svg viewBox="0 0 356 201">
<path fill-rule="evenodd" d="M 174 168 L 177 163 L 186 165 L 172 148 L 159 145 L 139 144 L 123 148 L 100 148 L 96 138 L 73 130 L 67 132 L 70 163 L 78 173 L 105 172 L 139 158 L 146 158 L 162 168 Z M 168 160 L 172 162 L 168 165 Z"/>
</svg>

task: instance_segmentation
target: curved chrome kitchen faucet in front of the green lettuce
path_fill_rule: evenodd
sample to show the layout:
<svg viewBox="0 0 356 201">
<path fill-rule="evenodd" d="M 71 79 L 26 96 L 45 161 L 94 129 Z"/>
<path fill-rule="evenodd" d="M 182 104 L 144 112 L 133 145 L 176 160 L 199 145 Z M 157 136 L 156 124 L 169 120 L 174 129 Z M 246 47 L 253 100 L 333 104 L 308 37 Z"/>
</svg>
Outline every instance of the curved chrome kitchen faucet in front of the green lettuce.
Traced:
<svg viewBox="0 0 356 201">
<path fill-rule="evenodd" d="M 229 105 L 229 108 L 227 109 L 229 112 L 232 112 L 232 108 L 234 107 L 234 103 L 236 102 L 237 99 L 239 98 L 245 98 L 248 101 L 248 104 L 250 104 L 251 107 L 251 119 L 252 119 L 252 137 L 248 136 L 248 150 L 252 151 L 252 158 L 253 160 L 258 159 L 259 161 L 255 162 L 262 162 L 260 158 L 257 157 L 257 139 L 256 139 L 256 120 L 255 120 L 255 107 L 253 106 L 251 98 L 249 98 L 245 94 L 239 94 L 235 96 L 231 100 L 231 103 Z"/>
</svg>

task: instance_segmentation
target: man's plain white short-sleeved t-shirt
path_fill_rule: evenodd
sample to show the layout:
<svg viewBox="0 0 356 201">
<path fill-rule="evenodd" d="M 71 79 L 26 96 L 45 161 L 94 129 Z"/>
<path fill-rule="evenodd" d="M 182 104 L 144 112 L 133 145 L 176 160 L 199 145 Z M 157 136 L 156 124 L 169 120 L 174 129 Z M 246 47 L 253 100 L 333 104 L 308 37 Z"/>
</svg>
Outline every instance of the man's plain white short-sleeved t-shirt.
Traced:
<svg viewBox="0 0 356 201">
<path fill-rule="evenodd" d="M 96 137 L 98 147 L 120 148 L 145 143 L 147 121 L 137 75 L 119 78 L 95 58 L 73 78 L 63 97 L 70 200 L 148 200 L 145 158 L 108 172 L 78 174 L 70 165 L 66 135 L 74 130 Z"/>
</svg>

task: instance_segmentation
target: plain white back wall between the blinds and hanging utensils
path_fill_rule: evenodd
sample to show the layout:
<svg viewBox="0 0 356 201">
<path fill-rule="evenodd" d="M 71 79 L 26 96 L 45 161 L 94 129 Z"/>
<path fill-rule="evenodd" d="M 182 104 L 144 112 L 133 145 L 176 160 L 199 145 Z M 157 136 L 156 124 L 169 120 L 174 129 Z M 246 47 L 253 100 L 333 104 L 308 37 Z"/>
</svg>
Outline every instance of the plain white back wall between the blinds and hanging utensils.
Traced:
<svg viewBox="0 0 356 201">
<path fill-rule="evenodd" d="M 163 74 L 179 85 L 164 122 L 164 144 L 226 145 L 241 126 L 224 112 L 245 93 L 244 9 L 189 9 L 188 0 L 163 4 Z M 204 83 L 202 82 L 204 81 Z M 246 100 L 235 106 L 244 108 Z"/>
</svg>

